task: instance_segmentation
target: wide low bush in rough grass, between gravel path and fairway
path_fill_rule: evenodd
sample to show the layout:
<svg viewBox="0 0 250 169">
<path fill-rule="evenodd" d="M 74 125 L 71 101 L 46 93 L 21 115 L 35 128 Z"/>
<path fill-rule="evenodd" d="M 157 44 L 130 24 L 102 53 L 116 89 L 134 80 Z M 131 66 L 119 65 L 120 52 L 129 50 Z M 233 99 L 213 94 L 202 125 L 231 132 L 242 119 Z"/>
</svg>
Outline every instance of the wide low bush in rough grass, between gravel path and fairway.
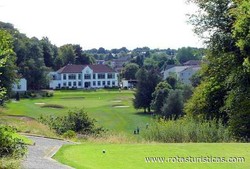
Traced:
<svg viewBox="0 0 250 169">
<path fill-rule="evenodd" d="M 72 130 L 79 134 L 100 134 L 103 128 L 95 126 L 95 119 L 91 119 L 83 109 L 74 109 L 62 117 L 43 117 L 39 118 L 43 124 L 50 126 L 58 134 L 63 134 Z"/>
</svg>

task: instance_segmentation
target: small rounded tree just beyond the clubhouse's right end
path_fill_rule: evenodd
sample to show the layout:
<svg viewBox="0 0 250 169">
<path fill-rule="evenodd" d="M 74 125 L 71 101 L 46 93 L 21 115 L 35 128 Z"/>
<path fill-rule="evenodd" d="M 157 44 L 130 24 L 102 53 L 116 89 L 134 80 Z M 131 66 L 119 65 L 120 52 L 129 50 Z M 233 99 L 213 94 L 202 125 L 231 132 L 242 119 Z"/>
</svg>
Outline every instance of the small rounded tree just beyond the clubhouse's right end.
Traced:
<svg viewBox="0 0 250 169">
<path fill-rule="evenodd" d="M 135 74 L 139 70 L 139 66 L 135 63 L 129 63 L 122 71 L 123 78 L 127 80 L 135 80 Z"/>
</svg>

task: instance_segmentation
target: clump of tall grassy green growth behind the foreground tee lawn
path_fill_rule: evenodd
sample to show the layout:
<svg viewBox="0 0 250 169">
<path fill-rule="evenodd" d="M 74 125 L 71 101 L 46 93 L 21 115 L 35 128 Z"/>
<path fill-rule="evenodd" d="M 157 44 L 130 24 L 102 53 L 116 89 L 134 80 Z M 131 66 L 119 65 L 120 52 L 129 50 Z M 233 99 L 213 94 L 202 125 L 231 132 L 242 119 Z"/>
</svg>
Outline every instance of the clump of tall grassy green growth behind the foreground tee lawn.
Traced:
<svg viewBox="0 0 250 169">
<path fill-rule="evenodd" d="M 197 121 L 192 118 L 162 120 L 151 125 L 144 133 L 149 141 L 182 142 L 232 142 L 233 137 L 221 122 Z"/>
</svg>

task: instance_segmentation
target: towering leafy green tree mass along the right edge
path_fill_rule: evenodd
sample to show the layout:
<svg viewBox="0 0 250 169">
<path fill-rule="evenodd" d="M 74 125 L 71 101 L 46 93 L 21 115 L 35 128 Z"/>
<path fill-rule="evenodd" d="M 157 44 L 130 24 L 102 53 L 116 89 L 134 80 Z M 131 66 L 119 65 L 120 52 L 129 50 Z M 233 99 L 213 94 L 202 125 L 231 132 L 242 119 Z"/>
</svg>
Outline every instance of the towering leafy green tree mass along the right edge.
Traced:
<svg viewBox="0 0 250 169">
<path fill-rule="evenodd" d="M 208 64 L 185 106 L 187 114 L 222 119 L 238 139 L 250 138 L 248 0 L 190 0 L 199 7 L 191 16 L 195 32 L 206 37 Z"/>
</svg>

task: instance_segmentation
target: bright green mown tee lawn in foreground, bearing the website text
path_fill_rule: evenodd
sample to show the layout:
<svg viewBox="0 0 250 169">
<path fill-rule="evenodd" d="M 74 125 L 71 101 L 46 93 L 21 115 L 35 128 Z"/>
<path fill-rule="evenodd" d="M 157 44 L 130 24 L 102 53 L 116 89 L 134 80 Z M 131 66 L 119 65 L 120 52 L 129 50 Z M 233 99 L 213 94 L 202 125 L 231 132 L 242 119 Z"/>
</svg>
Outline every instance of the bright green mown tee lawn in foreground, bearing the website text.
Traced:
<svg viewBox="0 0 250 169">
<path fill-rule="evenodd" d="M 105 150 L 104 154 L 102 151 Z M 244 163 L 146 163 L 145 157 L 244 157 Z M 53 157 L 77 169 L 249 169 L 250 145 L 240 143 L 94 144 L 63 146 Z"/>
</svg>

